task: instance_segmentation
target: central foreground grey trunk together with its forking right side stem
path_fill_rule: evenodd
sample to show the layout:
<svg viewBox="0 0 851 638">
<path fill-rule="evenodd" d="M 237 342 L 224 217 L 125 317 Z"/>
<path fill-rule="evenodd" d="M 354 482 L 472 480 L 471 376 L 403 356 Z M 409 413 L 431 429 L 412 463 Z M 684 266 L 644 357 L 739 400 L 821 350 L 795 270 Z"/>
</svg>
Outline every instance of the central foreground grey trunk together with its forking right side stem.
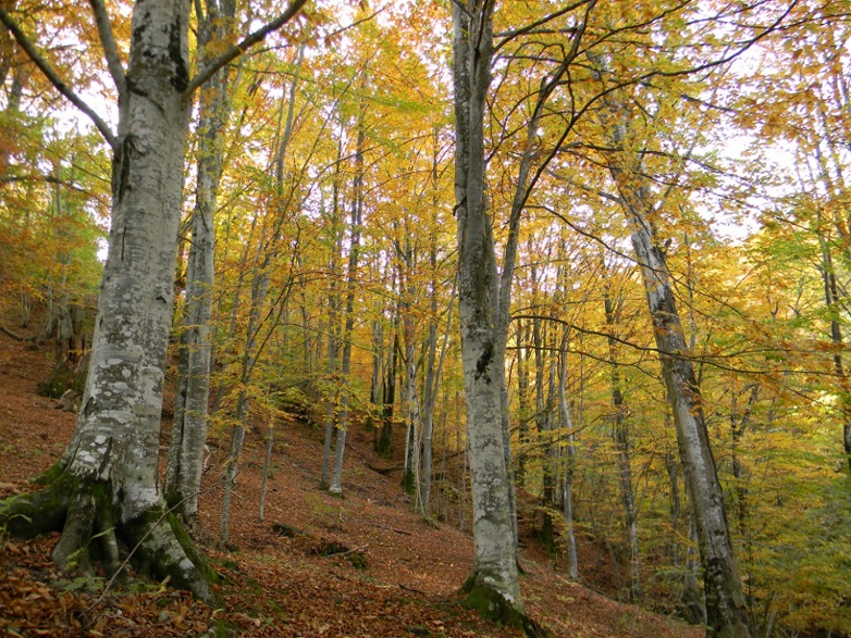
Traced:
<svg viewBox="0 0 851 638">
<path fill-rule="evenodd" d="M 589 2 L 588 12 L 594 2 Z M 497 274 L 485 198 L 484 114 L 493 58 L 491 0 L 454 2 L 455 210 L 458 218 L 458 315 L 467 396 L 467 429 L 473 493 L 474 580 L 522 609 L 517 585 L 517 516 L 511 480 L 505 349 L 520 216 L 555 148 L 539 153 L 544 107 L 578 52 L 585 20 L 570 35 L 558 67 L 541 82 L 526 127 L 526 141 L 507 223 L 502 273 Z M 568 125 L 562 140 L 570 130 Z M 535 167 L 536 166 L 536 167 Z M 534 168 L 534 170 L 533 170 Z M 498 429 L 497 429 L 498 428 Z M 495 454 L 501 454 L 497 460 Z M 506 539 L 510 541 L 506 547 Z M 508 565 L 507 563 L 511 563 Z"/>
</svg>

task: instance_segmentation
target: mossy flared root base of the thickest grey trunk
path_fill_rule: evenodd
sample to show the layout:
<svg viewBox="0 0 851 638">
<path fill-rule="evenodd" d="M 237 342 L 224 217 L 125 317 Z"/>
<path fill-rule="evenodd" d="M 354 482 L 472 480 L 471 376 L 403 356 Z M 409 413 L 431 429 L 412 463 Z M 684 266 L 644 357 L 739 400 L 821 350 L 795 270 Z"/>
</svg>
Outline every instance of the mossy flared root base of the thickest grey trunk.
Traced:
<svg viewBox="0 0 851 638">
<path fill-rule="evenodd" d="M 0 528 L 20 538 L 60 531 L 52 559 L 61 570 L 94 575 L 97 565 L 111 578 L 130 564 L 143 577 L 168 578 L 173 587 L 217 601 L 215 572 L 163 506 L 122 522 L 108 483 L 57 466 L 37 483 L 44 487 L 0 501 Z"/>
</svg>

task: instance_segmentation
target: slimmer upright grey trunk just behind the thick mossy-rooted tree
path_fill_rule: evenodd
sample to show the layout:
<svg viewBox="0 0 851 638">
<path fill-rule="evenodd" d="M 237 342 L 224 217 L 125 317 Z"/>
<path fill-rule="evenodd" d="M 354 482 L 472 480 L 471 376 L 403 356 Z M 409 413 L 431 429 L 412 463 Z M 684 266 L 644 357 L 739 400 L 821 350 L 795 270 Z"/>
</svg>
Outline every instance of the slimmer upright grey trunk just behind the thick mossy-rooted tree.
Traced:
<svg viewBox="0 0 851 638">
<path fill-rule="evenodd" d="M 205 11 L 206 9 L 206 11 Z M 233 30 L 233 0 L 196 4 L 199 62 L 209 64 L 211 48 Z M 186 261 L 186 308 L 177 362 L 177 393 L 165 471 L 165 501 L 184 523 L 198 518 L 198 497 L 205 462 L 213 288 L 213 215 L 222 176 L 224 127 L 231 115 L 230 73 L 219 70 L 199 91 L 198 179 Z"/>
</svg>

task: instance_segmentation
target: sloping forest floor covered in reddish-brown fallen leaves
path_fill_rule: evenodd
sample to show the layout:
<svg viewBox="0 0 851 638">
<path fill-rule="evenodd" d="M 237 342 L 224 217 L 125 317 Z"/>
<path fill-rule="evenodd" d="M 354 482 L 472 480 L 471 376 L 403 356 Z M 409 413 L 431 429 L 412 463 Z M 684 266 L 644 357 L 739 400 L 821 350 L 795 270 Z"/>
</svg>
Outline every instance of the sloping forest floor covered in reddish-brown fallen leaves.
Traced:
<svg viewBox="0 0 851 638">
<path fill-rule="evenodd" d="M 0 333 L 0 497 L 27 490 L 27 479 L 59 458 L 73 433 L 75 415 L 37 395 L 51 367 L 49 350 Z M 59 574 L 50 561 L 57 535 L 27 542 L 0 538 L 0 636 L 199 636 L 214 627 L 234 636 L 517 636 L 460 606 L 472 537 L 412 511 L 402 473 L 392 470 L 399 460 L 377 456 L 372 435 L 353 426 L 344 497 L 334 497 L 319 489 L 321 436 L 305 422 L 276 426 L 261 522 L 264 443 L 262 433 L 248 434 L 226 546 L 218 542 L 223 451 L 211 446 L 201 511 L 205 550 L 222 575 L 221 609 L 166 585 L 104 592 L 102 580 Z M 164 435 L 163 453 L 166 447 Z M 527 611 L 555 636 L 703 635 L 571 583 L 528 533 L 522 545 Z M 590 541 L 580 552 L 584 583 L 602 587 L 607 558 Z"/>
</svg>

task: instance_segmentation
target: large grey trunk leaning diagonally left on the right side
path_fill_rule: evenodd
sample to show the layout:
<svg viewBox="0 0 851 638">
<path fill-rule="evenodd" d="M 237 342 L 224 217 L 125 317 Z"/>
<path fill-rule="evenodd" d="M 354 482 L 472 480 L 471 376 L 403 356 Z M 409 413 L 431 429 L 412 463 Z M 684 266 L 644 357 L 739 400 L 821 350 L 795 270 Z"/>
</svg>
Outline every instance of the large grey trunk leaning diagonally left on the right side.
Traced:
<svg viewBox="0 0 851 638">
<path fill-rule="evenodd" d="M 625 109 L 612 98 L 605 99 L 604 103 L 610 120 L 603 125 L 612 148 L 622 149 L 629 130 Z M 651 189 L 641 174 L 640 161 L 626 155 L 626 151 L 612 152 L 608 168 L 632 230 L 632 247 L 644 283 L 662 375 L 674 413 L 703 563 L 707 635 L 749 637 L 747 605 L 727 524 L 724 492 L 710 446 L 694 366 L 683 355 L 688 352 L 688 343 L 665 252 L 652 224 L 655 211 Z"/>
</svg>

